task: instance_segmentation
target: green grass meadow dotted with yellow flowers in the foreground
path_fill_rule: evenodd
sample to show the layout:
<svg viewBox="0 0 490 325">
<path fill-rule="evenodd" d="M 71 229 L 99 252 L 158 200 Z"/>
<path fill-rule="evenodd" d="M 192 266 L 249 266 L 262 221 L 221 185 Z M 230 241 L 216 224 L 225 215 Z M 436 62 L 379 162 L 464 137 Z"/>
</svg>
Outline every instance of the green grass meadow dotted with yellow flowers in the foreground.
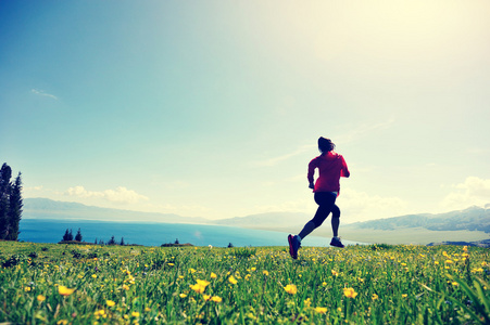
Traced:
<svg viewBox="0 0 490 325">
<path fill-rule="evenodd" d="M 292 260 L 286 247 L 0 242 L 0 323 L 490 321 L 490 253 L 475 247 L 302 248 Z M 74 291 L 63 296 L 63 286 Z"/>
</svg>

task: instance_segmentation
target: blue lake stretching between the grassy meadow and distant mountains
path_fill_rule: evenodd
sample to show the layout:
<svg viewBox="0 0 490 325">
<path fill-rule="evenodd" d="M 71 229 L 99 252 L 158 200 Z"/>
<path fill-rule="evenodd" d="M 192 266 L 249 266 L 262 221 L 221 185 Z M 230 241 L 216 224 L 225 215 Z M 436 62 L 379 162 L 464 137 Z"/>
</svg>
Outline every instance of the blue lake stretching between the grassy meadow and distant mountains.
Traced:
<svg viewBox="0 0 490 325">
<path fill-rule="evenodd" d="M 287 233 L 251 230 L 223 225 L 187 224 L 187 223 L 136 223 L 136 222 L 106 222 L 87 220 L 21 220 L 20 240 L 32 243 L 58 243 L 66 231 L 71 229 L 73 236 L 80 229 L 83 240 L 93 243 L 109 242 L 112 236 L 116 243 L 124 238 L 125 244 L 139 244 L 143 246 L 160 246 L 174 243 L 190 243 L 194 246 L 227 247 L 231 243 L 235 247 L 243 246 L 287 246 Z M 355 245 L 350 240 L 342 240 L 345 245 Z M 302 246 L 329 246 L 330 238 L 309 236 Z"/>
</svg>

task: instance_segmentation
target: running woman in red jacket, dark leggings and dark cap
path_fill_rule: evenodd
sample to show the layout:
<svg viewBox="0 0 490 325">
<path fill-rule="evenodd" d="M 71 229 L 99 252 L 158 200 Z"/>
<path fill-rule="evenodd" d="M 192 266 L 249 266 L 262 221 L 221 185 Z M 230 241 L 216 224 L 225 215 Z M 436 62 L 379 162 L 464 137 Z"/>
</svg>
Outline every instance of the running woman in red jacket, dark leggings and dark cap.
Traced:
<svg viewBox="0 0 490 325">
<path fill-rule="evenodd" d="M 340 193 L 340 178 L 348 178 L 351 173 L 343 157 L 334 152 L 335 144 L 330 139 L 321 136 L 318 139 L 318 150 L 322 155 L 310 161 L 307 166 L 309 187 L 313 190 L 318 209 L 313 219 L 304 225 L 298 235 L 292 236 L 290 234 L 288 236 L 289 253 L 293 259 L 298 258 L 298 248 L 300 248 L 301 240 L 316 227 L 321 226 L 330 212 L 331 230 L 334 232 L 334 238 L 331 238 L 330 245 L 341 248 L 344 247 L 338 234 L 340 209 L 335 202 Z M 318 168 L 319 176 L 316 182 L 313 183 L 313 176 L 316 168 Z"/>
</svg>

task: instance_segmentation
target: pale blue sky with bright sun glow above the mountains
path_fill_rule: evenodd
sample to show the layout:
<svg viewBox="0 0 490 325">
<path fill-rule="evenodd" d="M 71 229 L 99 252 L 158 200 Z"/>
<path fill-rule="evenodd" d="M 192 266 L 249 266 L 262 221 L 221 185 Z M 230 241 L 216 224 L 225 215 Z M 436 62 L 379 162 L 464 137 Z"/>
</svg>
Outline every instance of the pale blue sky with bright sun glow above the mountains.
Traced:
<svg viewBox="0 0 490 325">
<path fill-rule="evenodd" d="M 490 203 L 487 1 L 0 1 L 0 160 L 24 197 L 343 222 Z"/>
</svg>

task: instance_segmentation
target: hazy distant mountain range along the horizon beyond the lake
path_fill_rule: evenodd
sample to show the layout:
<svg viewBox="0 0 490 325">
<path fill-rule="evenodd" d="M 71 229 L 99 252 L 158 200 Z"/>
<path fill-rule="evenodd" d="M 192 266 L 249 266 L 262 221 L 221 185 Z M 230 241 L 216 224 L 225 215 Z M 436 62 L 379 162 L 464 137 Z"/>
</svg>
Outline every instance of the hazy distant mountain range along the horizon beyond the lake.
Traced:
<svg viewBox="0 0 490 325">
<path fill-rule="evenodd" d="M 311 219 L 306 213 L 269 212 L 222 220 L 181 217 L 172 213 L 138 212 L 86 206 L 78 203 L 55 202 L 48 198 L 25 198 L 24 219 L 100 220 L 113 222 L 162 222 L 233 225 L 237 227 L 299 231 Z M 325 227 L 326 231 L 327 227 Z M 342 224 L 345 231 L 470 231 L 490 233 L 490 209 L 470 207 L 461 211 L 430 214 L 409 214 L 372 221 Z M 328 230 L 329 231 L 329 230 Z"/>
</svg>

